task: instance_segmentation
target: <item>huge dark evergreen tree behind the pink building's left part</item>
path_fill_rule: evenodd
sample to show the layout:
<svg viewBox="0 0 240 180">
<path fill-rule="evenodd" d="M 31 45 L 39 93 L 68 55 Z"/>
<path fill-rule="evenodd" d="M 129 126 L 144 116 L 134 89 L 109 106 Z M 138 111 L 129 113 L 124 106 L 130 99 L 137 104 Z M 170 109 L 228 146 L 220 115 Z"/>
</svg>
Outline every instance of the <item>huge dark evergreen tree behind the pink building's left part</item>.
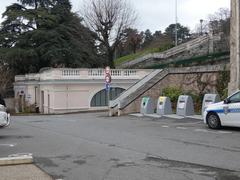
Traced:
<svg viewBox="0 0 240 180">
<path fill-rule="evenodd" d="M 43 67 L 98 67 L 96 35 L 71 12 L 69 0 L 20 0 L 7 7 L 1 57 L 15 73 Z"/>
</svg>

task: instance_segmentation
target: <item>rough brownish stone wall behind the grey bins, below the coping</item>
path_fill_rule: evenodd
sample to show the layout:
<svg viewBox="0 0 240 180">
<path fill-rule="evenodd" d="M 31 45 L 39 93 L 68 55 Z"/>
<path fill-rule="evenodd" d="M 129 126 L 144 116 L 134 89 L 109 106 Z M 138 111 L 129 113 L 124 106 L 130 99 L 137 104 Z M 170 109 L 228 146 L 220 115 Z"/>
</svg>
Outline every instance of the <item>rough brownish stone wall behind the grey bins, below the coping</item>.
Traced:
<svg viewBox="0 0 240 180">
<path fill-rule="evenodd" d="M 162 91 L 166 87 L 180 87 L 184 92 L 191 91 L 196 94 L 202 91 L 203 88 L 208 93 L 217 93 L 215 88 L 217 76 L 218 72 L 169 74 L 162 81 L 159 81 L 151 89 L 131 102 L 127 107 L 120 109 L 118 113 L 124 115 L 139 112 L 141 100 L 144 96 L 150 96 L 155 100 L 155 103 L 157 103 L 158 97 L 162 95 Z M 207 82 L 208 85 L 205 87 L 199 82 Z"/>
</svg>

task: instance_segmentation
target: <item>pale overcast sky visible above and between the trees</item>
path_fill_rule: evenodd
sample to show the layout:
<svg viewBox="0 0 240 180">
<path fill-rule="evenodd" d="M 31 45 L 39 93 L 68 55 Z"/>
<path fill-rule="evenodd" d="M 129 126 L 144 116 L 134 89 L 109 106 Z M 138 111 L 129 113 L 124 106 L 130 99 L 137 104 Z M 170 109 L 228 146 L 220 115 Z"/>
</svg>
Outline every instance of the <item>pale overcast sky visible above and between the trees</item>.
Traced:
<svg viewBox="0 0 240 180">
<path fill-rule="evenodd" d="M 80 11 L 82 0 L 70 0 L 73 11 Z M 177 0 L 178 21 L 194 30 L 200 19 L 207 19 L 219 8 L 230 8 L 230 0 Z M 6 6 L 17 0 L 1 0 L 0 13 Z M 136 28 L 150 29 L 152 32 L 162 30 L 171 23 L 175 23 L 175 0 L 129 0 L 138 13 Z"/>
</svg>

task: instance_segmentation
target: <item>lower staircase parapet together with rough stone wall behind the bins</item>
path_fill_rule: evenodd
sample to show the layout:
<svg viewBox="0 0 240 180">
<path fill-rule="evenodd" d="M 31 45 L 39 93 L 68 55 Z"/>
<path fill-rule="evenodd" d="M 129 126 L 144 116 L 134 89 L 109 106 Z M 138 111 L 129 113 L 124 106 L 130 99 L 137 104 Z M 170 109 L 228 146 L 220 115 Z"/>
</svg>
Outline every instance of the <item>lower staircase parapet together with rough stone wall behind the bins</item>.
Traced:
<svg viewBox="0 0 240 180">
<path fill-rule="evenodd" d="M 109 115 L 118 116 L 139 112 L 142 97 L 150 96 L 157 101 L 158 97 L 162 95 L 162 90 L 166 87 L 180 87 L 184 91 L 199 92 L 199 78 L 202 81 L 209 82 L 206 87 L 209 92 L 216 92 L 215 86 L 217 76 L 220 71 L 225 70 L 225 65 L 214 66 L 198 66 L 189 68 L 170 68 L 157 73 L 149 81 L 145 82 L 135 91 L 125 91 L 128 96 L 119 96 L 116 100 L 115 106 L 109 107 Z M 157 102 L 155 102 L 157 103 Z"/>
</svg>

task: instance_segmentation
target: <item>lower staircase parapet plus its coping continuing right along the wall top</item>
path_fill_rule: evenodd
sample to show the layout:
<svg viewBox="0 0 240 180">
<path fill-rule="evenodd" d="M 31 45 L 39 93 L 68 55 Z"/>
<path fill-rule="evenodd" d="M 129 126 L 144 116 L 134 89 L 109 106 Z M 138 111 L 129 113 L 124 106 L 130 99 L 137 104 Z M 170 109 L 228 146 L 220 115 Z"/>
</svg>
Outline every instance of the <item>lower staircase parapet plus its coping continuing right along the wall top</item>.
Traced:
<svg viewBox="0 0 240 180">
<path fill-rule="evenodd" d="M 179 76 L 181 74 L 199 74 L 199 73 L 217 73 L 229 69 L 226 64 L 209 65 L 209 66 L 195 66 L 195 67 L 183 67 L 183 68 L 169 68 L 169 69 L 157 69 L 149 75 L 145 76 L 142 80 L 131 86 L 124 91 L 120 96 L 110 101 L 109 103 L 109 116 L 122 115 L 123 110 L 128 108 L 130 104 L 136 102 L 141 98 L 145 92 L 153 90 L 154 86 L 161 83 L 168 75 Z M 171 84 L 169 84 L 170 86 Z M 156 89 L 158 91 L 158 89 Z M 155 91 L 156 91 L 155 90 Z M 136 112 L 136 109 L 131 109 L 132 112 Z"/>
</svg>

